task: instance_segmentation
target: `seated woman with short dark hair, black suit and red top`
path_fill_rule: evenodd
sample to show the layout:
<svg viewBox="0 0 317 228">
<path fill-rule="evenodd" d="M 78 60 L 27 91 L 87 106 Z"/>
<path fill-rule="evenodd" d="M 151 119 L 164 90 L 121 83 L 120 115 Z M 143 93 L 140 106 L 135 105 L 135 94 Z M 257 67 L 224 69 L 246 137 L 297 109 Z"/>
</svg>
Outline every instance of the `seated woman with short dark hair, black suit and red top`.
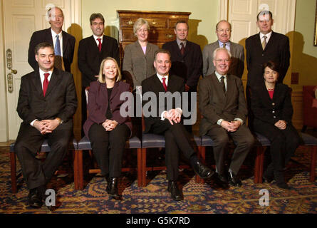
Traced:
<svg viewBox="0 0 317 228">
<path fill-rule="evenodd" d="M 289 189 L 284 180 L 284 167 L 299 145 L 300 137 L 291 124 L 293 107 L 289 86 L 276 83 L 279 66 L 264 63 L 264 82 L 251 90 L 251 111 L 254 131 L 271 142 L 271 163 L 264 172 L 264 181 Z"/>
</svg>

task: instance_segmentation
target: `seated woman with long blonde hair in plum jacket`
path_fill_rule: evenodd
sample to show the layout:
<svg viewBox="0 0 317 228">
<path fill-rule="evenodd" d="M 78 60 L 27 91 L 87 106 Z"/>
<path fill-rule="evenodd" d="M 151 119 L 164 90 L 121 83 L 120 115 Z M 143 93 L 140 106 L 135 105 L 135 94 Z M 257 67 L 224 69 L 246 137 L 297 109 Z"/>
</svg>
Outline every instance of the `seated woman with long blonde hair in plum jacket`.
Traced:
<svg viewBox="0 0 317 228">
<path fill-rule="evenodd" d="M 118 195 L 125 141 L 130 136 L 132 124 L 129 117 L 120 115 L 120 94 L 130 91 L 130 86 L 121 80 L 118 63 L 114 58 L 105 58 L 100 65 L 97 81 L 90 83 L 88 93 L 88 119 L 83 125 L 90 139 L 93 155 L 108 182 L 107 192 Z"/>
</svg>

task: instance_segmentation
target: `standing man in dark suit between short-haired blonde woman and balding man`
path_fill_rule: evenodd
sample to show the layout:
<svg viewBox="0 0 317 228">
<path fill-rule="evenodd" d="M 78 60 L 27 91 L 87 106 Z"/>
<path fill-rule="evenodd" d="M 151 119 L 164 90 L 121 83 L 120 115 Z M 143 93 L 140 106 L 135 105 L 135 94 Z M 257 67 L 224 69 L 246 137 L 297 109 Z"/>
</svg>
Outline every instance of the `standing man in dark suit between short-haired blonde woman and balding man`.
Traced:
<svg viewBox="0 0 317 228">
<path fill-rule="evenodd" d="M 174 29 L 176 40 L 164 43 L 162 48 L 171 53 L 170 73 L 184 78 L 185 91 L 190 94 L 197 91 L 197 83 L 202 75 L 202 50 L 197 43 L 187 41 L 188 30 L 186 21 L 177 21 Z M 185 127 L 192 132 L 192 125 L 185 125 Z"/>
</svg>

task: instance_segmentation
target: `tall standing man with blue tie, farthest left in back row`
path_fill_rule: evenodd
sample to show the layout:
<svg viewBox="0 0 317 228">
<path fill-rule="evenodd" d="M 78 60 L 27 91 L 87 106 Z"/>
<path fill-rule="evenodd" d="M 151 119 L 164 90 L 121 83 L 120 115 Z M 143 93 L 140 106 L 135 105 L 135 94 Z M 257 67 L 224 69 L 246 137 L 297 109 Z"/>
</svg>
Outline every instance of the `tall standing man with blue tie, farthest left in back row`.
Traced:
<svg viewBox="0 0 317 228">
<path fill-rule="evenodd" d="M 34 48 L 38 43 L 48 42 L 54 47 L 55 67 L 63 71 L 71 72 L 71 63 L 75 48 L 75 37 L 62 31 L 64 15 L 58 7 L 53 7 L 47 12 L 51 28 L 36 31 L 32 34 L 28 46 L 28 63 L 34 69 L 38 68 L 38 62 L 34 58 Z"/>
</svg>

